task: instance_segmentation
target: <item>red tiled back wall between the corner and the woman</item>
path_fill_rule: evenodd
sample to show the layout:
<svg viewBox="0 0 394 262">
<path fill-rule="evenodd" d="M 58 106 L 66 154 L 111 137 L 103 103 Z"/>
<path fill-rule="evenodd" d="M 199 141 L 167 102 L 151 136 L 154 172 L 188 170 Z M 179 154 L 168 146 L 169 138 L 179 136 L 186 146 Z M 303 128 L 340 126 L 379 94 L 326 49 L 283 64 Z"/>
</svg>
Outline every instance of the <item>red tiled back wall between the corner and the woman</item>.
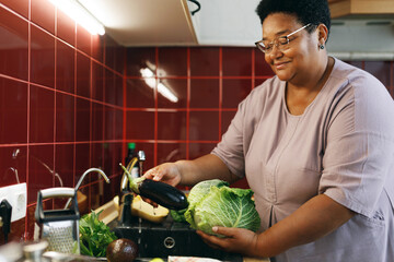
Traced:
<svg viewBox="0 0 394 262">
<path fill-rule="evenodd" d="M 140 72 L 147 67 L 154 72 L 150 80 L 171 88 L 178 102 L 149 87 Z M 263 53 L 244 47 L 127 48 L 125 73 L 126 141 L 147 152 L 146 169 L 209 153 L 237 104 L 273 75 Z"/>
</svg>

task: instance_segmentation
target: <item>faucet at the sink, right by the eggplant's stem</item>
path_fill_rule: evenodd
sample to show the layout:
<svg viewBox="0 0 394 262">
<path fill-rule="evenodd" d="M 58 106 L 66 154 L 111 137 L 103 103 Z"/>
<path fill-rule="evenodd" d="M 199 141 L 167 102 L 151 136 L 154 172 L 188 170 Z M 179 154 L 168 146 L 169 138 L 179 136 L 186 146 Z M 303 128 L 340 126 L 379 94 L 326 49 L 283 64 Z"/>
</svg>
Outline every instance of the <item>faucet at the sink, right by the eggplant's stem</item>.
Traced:
<svg viewBox="0 0 394 262">
<path fill-rule="evenodd" d="M 146 155 L 143 151 L 138 152 L 138 156 L 132 157 L 130 163 L 127 165 L 127 170 L 131 170 L 132 167 L 139 162 L 139 176 L 143 175 L 142 171 L 142 163 L 146 160 Z M 132 198 L 134 193 L 130 190 L 129 186 L 129 179 L 126 172 L 123 174 L 121 180 L 120 180 L 120 214 L 119 214 L 119 222 L 123 225 L 131 225 L 132 223 L 132 215 L 131 215 L 131 204 L 132 204 Z"/>
</svg>

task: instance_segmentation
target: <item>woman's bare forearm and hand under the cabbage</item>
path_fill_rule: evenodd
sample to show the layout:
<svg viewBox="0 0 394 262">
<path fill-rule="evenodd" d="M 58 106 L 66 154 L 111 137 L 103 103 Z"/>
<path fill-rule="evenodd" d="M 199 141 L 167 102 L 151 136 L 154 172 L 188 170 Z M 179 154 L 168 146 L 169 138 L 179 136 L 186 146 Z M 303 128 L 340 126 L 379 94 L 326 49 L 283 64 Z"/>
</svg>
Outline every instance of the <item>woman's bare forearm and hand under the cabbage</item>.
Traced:
<svg viewBox="0 0 394 262">
<path fill-rule="evenodd" d="M 210 236 L 200 230 L 197 234 L 215 248 L 248 257 L 269 258 L 324 237 L 352 216 L 351 211 L 325 194 L 320 194 L 262 234 L 228 227 L 212 228 L 227 238 Z"/>
</svg>

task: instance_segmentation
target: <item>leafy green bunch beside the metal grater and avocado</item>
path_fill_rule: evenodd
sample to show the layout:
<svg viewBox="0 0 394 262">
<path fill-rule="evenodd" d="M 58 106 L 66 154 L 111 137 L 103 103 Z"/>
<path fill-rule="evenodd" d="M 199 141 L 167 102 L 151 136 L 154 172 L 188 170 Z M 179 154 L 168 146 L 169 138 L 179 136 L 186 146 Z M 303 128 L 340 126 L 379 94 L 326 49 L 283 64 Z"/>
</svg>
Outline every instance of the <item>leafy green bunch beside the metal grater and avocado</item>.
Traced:
<svg viewBox="0 0 394 262">
<path fill-rule="evenodd" d="M 99 221 L 99 214 L 92 211 L 80 219 L 81 254 L 105 258 L 107 246 L 117 237 L 107 225 Z"/>
</svg>

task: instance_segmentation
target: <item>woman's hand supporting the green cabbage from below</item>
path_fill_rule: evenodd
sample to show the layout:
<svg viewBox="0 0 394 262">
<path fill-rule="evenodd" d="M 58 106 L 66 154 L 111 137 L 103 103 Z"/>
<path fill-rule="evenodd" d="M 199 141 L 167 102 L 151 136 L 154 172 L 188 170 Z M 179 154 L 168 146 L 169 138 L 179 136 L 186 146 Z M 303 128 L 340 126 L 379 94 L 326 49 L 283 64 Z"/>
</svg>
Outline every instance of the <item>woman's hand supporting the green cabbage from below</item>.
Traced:
<svg viewBox="0 0 394 262">
<path fill-rule="evenodd" d="M 197 234 L 210 247 L 232 253 L 253 254 L 256 252 L 258 235 L 244 228 L 234 227 L 212 227 L 216 234 L 223 235 L 224 238 L 208 235 L 201 230 Z"/>
</svg>

